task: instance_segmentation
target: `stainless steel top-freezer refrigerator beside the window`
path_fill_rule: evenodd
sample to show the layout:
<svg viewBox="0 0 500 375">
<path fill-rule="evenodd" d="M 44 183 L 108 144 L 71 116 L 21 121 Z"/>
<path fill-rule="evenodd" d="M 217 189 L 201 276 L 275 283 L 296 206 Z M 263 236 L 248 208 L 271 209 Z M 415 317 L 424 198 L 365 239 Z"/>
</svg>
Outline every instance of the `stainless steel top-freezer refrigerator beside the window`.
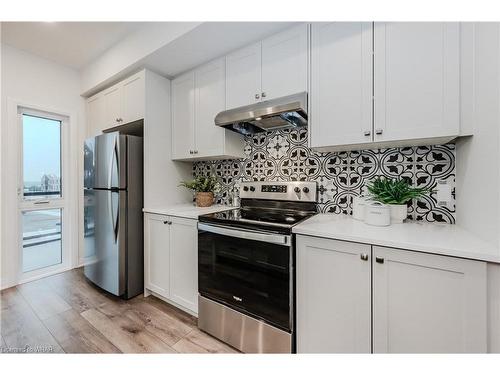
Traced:
<svg viewBox="0 0 500 375">
<path fill-rule="evenodd" d="M 106 133 L 84 144 L 84 273 L 123 298 L 143 292 L 142 138 Z"/>
</svg>

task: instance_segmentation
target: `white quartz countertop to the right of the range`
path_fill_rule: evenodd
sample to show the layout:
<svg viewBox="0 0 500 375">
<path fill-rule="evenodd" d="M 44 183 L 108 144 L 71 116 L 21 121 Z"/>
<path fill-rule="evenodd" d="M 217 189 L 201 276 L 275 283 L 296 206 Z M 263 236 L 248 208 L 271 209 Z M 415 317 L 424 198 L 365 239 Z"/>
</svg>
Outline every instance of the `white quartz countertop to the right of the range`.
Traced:
<svg viewBox="0 0 500 375">
<path fill-rule="evenodd" d="M 318 214 L 297 234 L 500 263 L 500 249 L 458 225 L 409 222 L 376 227 L 347 215 Z"/>
</svg>

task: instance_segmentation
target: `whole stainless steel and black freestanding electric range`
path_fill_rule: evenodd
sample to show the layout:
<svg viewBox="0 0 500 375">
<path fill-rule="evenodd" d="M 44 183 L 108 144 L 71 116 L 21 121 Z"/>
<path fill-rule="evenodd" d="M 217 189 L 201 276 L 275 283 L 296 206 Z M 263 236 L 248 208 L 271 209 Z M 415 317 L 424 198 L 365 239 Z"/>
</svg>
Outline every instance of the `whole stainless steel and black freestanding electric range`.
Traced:
<svg viewBox="0 0 500 375">
<path fill-rule="evenodd" d="M 295 350 L 292 227 L 316 196 L 315 182 L 245 182 L 239 209 L 200 216 L 200 329 L 246 353 Z"/>
</svg>

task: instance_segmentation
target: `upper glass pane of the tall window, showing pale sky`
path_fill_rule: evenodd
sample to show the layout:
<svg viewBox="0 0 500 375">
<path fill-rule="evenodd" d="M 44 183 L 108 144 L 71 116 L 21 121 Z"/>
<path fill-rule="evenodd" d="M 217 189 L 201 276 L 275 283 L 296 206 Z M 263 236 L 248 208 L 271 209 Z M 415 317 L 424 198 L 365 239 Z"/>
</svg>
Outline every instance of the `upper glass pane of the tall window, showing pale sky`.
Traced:
<svg viewBox="0 0 500 375">
<path fill-rule="evenodd" d="M 23 114 L 24 198 L 61 196 L 61 121 Z"/>
</svg>

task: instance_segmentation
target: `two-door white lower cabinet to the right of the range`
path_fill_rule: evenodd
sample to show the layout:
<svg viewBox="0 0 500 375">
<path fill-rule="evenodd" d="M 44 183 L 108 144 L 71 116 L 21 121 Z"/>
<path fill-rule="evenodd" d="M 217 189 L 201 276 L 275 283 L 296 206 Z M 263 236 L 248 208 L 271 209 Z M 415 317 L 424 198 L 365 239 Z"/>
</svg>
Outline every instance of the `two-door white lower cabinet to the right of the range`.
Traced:
<svg viewBox="0 0 500 375">
<path fill-rule="evenodd" d="M 485 262 L 297 236 L 297 350 L 485 353 L 486 282 Z"/>
</svg>

